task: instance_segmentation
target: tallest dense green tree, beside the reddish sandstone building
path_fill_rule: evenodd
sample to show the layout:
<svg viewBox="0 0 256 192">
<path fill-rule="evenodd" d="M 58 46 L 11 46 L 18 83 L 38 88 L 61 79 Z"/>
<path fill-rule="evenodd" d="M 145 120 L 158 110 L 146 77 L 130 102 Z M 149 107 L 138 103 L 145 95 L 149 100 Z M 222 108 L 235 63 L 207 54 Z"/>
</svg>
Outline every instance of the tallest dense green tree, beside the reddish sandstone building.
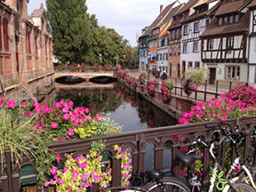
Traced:
<svg viewBox="0 0 256 192">
<path fill-rule="evenodd" d="M 53 53 L 61 62 L 80 63 L 92 45 L 92 26 L 85 0 L 46 0 Z M 95 21 L 95 20 L 94 20 Z"/>
</svg>

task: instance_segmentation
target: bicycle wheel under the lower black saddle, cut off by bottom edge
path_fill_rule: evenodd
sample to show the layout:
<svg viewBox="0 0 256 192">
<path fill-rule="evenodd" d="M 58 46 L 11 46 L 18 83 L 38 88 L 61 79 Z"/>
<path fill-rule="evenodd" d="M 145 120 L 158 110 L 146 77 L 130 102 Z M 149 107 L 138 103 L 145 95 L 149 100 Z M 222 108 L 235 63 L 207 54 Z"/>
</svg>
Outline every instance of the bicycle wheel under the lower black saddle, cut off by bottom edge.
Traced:
<svg viewBox="0 0 256 192">
<path fill-rule="evenodd" d="M 145 189 L 147 192 L 190 192 L 191 189 L 188 187 L 188 184 L 180 180 L 179 178 L 174 177 L 164 177 L 163 178 L 164 186 L 161 186 L 161 183 L 156 181 L 149 182 Z"/>
</svg>

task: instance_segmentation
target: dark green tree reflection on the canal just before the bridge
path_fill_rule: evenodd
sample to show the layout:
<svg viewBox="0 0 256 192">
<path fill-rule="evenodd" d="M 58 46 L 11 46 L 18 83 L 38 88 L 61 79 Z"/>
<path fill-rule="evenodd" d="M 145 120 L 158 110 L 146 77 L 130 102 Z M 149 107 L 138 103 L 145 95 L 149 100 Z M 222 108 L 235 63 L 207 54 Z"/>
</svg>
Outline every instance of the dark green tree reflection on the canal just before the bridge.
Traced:
<svg viewBox="0 0 256 192">
<path fill-rule="evenodd" d="M 122 104 L 122 98 L 113 89 L 60 89 L 55 100 L 61 99 L 72 100 L 75 107 L 89 108 L 92 116 L 113 112 Z"/>
</svg>

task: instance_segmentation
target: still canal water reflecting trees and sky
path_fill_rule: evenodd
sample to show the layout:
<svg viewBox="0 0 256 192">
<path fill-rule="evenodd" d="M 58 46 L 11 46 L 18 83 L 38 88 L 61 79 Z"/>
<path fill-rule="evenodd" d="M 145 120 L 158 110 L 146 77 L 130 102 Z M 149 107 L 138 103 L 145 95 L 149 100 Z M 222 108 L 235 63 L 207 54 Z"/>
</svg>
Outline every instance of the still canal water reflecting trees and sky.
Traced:
<svg viewBox="0 0 256 192">
<path fill-rule="evenodd" d="M 156 129 L 161 126 L 177 124 L 159 108 L 132 92 L 124 84 L 98 84 L 95 86 L 67 86 L 56 88 L 55 101 L 72 100 L 76 107 L 89 108 L 92 116 L 101 114 L 123 125 L 123 132 Z M 154 168 L 154 146 L 149 144 L 145 154 L 145 170 Z M 164 166 L 170 165 L 171 149 L 168 143 L 164 148 Z"/>
</svg>

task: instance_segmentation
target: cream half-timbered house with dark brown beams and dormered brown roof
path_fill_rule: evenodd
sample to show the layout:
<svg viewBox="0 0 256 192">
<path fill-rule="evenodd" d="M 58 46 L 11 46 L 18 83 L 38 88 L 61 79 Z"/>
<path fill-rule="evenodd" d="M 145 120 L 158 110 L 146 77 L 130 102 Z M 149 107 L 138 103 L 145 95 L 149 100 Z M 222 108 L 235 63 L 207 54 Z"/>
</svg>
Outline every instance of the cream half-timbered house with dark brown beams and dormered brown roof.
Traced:
<svg viewBox="0 0 256 192">
<path fill-rule="evenodd" d="M 252 0 L 223 0 L 202 34 L 201 57 L 209 82 L 220 85 L 248 81 L 248 28 Z"/>
</svg>

